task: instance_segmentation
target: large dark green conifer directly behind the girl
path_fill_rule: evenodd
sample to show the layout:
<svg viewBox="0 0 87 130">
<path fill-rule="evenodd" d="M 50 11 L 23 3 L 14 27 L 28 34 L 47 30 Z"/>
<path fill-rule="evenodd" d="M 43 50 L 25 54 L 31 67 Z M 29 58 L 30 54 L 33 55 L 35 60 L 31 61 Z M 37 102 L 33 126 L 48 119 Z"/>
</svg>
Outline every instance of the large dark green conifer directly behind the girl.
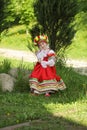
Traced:
<svg viewBox="0 0 87 130">
<path fill-rule="evenodd" d="M 34 9 L 41 26 L 39 33 L 48 35 L 53 50 L 71 44 L 75 34 L 71 23 L 77 13 L 77 0 L 37 0 Z"/>
</svg>

